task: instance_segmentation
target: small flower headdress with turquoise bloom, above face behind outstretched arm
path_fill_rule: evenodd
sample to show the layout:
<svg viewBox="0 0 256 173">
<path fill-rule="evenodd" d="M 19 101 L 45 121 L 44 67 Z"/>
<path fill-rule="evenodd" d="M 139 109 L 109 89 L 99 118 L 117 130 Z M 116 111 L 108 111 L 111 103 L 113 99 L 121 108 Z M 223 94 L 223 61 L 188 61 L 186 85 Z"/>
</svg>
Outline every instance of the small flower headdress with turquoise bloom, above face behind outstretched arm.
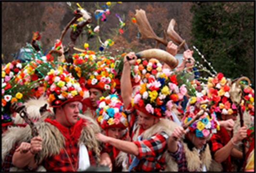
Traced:
<svg viewBox="0 0 256 173">
<path fill-rule="evenodd" d="M 97 122 L 103 129 L 108 127 L 126 128 L 128 126 L 127 116 L 123 112 L 123 103 L 115 94 L 101 97 L 96 113 Z"/>
</svg>

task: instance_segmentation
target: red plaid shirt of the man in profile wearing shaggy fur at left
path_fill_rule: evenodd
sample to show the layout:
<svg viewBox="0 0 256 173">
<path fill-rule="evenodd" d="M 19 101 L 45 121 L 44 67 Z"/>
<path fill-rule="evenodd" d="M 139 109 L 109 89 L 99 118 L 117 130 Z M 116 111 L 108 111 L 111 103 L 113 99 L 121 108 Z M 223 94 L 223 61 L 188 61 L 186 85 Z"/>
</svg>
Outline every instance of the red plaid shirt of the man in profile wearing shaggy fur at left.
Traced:
<svg viewBox="0 0 256 173">
<path fill-rule="evenodd" d="M 77 123 L 71 128 L 64 127 L 54 120 L 46 119 L 45 121 L 56 126 L 65 136 L 65 149 L 61 149 L 60 154 L 58 155 L 53 155 L 46 158 L 43 161 L 43 166 L 47 171 L 51 172 L 76 172 L 78 168 L 77 156 L 79 151 L 77 143 L 81 134 L 81 130 L 84 126 L 84 120 L 78 120 Z M 91 150 L 88 152 L 90 165 L 96 165 L 95 158 L 93 157 L 94 154 Z"/>
</svg>

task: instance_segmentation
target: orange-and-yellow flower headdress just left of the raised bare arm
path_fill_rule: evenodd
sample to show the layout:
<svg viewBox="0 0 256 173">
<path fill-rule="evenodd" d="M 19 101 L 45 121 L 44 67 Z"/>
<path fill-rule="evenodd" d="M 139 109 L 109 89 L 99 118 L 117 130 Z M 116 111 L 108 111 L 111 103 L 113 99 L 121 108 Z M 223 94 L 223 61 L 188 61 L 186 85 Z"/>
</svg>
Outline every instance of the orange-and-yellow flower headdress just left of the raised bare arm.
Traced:
<svg viewBox="0 0 256 173">
<path fill-rule="evenodd" d="M 102 59 L 97 62 L 94 72 L 89 74 L 86 86 L 91 88 L 98 88 L 100 90 L 114 91 L 115 88 L 115 59 L 113 57 L 99 57 Z"/>
</svg>

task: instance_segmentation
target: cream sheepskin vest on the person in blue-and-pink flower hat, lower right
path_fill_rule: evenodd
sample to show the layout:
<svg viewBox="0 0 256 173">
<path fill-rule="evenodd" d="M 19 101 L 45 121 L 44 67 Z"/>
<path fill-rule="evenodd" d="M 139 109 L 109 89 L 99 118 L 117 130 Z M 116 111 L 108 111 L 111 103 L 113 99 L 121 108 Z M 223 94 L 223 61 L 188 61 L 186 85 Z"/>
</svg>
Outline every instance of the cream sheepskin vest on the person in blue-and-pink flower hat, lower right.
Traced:
<svg viewBox="0 0 256 173">
<path fill-rule="evenodd" d="M 205 150 L 203 150 L 199 154 L 195 147 L 193 147 L 192 150 L 190 150 L 186 143 L 184 142 L 181 142 L 181 143 L 184 147 L 185 158 L 187 161 L 187 168 L 189 172 L 202 171 L 202 165 L 205 165 L 206 169 L 209 170 L 212 157 L 211 157 L 210 148 L 208 144 L 206 144 Z M 166 164 L 167 164 L 167 167 L 165 170 L 166 172 L 179 171 L 177 162 L 169 153 L 167 153 L 166 155 Z"/>
</svg>

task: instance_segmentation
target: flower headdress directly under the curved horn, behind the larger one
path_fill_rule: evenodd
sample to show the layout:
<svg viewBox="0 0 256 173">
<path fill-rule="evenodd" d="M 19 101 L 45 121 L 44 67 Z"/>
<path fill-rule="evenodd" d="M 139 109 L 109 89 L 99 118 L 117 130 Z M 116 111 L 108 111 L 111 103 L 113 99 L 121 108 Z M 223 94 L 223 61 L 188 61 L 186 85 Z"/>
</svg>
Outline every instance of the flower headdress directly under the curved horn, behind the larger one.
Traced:
<svg viewBox="0 0 256 173">
<path fill-rule="evenodd" d="M 157 73 L 162 71 L 162 64 L 152 58 L 150 60 L 138 59 L 132 68 L 132 82 L 139 84 L 140 81 L 148 82 L 149 77 L 156 77 Z"/>
</svg>

